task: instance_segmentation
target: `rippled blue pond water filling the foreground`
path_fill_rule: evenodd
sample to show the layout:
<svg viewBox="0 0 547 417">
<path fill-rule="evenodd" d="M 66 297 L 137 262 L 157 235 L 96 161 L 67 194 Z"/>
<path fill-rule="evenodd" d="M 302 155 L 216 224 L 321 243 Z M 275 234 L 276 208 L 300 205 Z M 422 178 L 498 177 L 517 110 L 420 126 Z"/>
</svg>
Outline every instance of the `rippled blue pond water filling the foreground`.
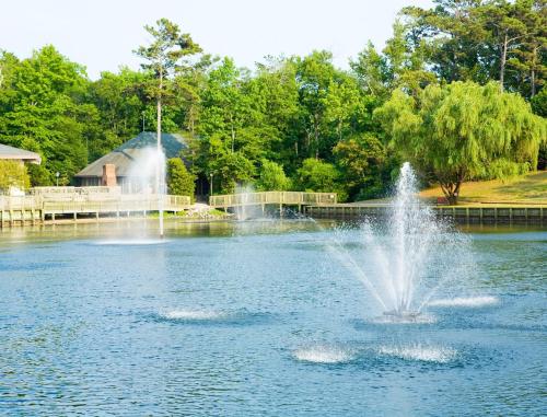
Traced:
<svg viewBox="0 0 547 417">
<path fill-rule="evenodd" d="M 0 232 L 0 414 L 545 414 L 546 229 L 463 229 L 469 275 L 393 323 L 339 224 L 166 228 Z"/>
</svg>

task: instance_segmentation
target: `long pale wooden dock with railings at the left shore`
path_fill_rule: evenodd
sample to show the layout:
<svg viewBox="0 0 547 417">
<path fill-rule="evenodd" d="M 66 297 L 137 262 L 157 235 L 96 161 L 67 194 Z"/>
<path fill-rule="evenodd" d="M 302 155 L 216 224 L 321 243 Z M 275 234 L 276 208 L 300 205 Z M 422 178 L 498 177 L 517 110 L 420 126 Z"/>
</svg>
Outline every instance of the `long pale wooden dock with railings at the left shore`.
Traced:
<svg viewBox="0 0 547 417">
<path fill-rule="evenodd" d="M 55 190 L 51 190 L 55 188 Z M 109 189 L 113 188 L 113 189 Z M 147 216 L 188 209 L 187 196 L 121 194 L 117 187 L 44 187 L 26 196 L 0 196 L 0 227 L 39 224 L 60 219 Z"/>
</svg>

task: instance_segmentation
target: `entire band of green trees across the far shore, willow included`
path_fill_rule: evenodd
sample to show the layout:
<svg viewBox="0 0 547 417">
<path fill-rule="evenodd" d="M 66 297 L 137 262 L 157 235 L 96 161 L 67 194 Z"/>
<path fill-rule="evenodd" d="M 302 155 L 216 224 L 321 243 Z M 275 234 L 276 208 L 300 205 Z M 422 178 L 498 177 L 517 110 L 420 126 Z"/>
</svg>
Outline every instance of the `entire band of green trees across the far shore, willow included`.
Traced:
<svg viewBox="0 0 547 417">
<path fill-rule="evenodd" d="M 26 59 L 0 50 L 0 142 L 42 155 L 33 185 L 56 172 L 73 183 L 138 132 L 164 130 L 185 137 L 199 194 L 212 179 L 213 193 L 255 183 L 376 198 L 409 158 L 455 196 L 459 177 L 545 167 L 546 15 L 543 0 L 408 7 L 349 70 L 328 50 L 240 68 L 167 19 L 144 27 L 140 70 L 95 81 L 54 46 Z"/>
</svg>

